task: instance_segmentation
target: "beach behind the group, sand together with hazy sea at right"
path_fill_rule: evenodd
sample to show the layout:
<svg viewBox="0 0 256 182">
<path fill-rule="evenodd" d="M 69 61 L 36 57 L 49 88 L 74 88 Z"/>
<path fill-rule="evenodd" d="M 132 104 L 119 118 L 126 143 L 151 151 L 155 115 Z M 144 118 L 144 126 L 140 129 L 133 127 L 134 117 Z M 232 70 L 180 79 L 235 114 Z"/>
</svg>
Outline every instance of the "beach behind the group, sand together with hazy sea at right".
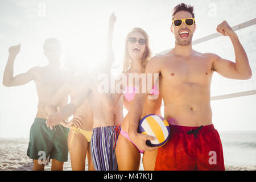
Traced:
<svg viewBox="0 0 256 182">
<path fill-rule="evenodd" d="M 256 171 L 256 132 L 220 133 L 228 171 Z M 0 170 L 30 171 L 33 162 L 27 156 L 28 139 L 0 139 Z M 87 162 L 86 162 L 87 163 Z M 88 166 L 86 164 L 86 170 Z M 143 165 L 139 168 L 143 170 Z M 51 162 L 46 165 L 51 170 Z M 71 171 L 71 161 L 64 163 L 64 171 Z"/>
</svg>

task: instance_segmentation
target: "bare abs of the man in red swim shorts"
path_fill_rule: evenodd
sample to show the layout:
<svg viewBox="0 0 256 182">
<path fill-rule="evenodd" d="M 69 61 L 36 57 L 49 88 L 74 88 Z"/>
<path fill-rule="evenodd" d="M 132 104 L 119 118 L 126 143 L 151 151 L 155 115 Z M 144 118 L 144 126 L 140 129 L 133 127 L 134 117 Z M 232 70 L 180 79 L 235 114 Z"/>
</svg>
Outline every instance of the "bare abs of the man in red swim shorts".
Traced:
<svg viewBox="0 0 256 182">
<path fill-rule="evenodd" d="M 201 126 L 212 123 L 209 85 L 180 84 L 163 89 L 164 118 L 172 125 Z"/>
</svg>

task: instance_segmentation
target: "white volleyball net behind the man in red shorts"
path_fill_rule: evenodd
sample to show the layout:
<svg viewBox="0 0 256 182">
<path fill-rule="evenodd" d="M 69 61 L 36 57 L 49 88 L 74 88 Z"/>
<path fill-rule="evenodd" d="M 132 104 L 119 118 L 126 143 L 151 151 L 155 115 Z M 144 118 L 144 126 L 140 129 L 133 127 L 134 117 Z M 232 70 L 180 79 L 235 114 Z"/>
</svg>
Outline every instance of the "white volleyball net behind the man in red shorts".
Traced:
<svg viewBox="0 0 256 182">
<path fill-rule="evenodd" d="M 256 94 L 256 18 L 232 27 L 245 49 L 249 59 L 252 77 L 249 80 L 233 80 L 213 74 L 211 86 L 211 100 L 248 96 Z M 232 42 L 226 36 L 214 33 L 192 42 L 193 49 L 199 52 L 216 53 L 223 59 L 235 61 Z M 167 52 L 162 51 L 160 53 Z"/>
</svg>

